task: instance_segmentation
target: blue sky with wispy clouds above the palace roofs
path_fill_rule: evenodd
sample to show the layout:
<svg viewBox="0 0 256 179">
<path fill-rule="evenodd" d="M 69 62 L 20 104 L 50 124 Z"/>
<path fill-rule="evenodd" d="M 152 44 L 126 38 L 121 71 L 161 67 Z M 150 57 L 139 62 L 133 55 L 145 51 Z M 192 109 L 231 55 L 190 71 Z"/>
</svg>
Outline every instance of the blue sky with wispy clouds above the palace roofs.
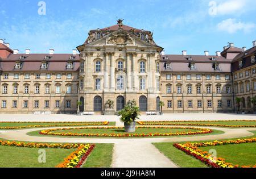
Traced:
<svg viewBox="0 0 256 179">
<path fill-rule="evenodd" d="M 168 54 L 211 55 L 228 42 L 247 49 L 256 40 L 255 0 L 189 1 L 64 1 L 45 0 L 46 15 L 39 15 L 39 1 L 0 0 L 0 39 L 24 53 L 72 53 L 84 43 L 89 30 L 109 27 L 116 19 L 154 31 L 155 42 Z"/>
</svg>

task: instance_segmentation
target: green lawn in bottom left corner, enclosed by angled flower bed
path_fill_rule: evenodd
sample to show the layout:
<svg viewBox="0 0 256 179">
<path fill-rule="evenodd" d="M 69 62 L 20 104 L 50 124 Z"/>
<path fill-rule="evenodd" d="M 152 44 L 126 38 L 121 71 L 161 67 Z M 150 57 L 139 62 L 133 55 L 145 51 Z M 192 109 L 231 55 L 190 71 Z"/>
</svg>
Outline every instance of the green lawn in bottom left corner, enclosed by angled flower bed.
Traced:
<svg viewBox="0 0 256 179">
<path fill-rule="evenodd" d="M 0 168 L 53 168 L 62 163 L 76 149 L 46 148 L 46 163 L 39 163 L 40 148 L 0 145 Z"/>
</svg>

